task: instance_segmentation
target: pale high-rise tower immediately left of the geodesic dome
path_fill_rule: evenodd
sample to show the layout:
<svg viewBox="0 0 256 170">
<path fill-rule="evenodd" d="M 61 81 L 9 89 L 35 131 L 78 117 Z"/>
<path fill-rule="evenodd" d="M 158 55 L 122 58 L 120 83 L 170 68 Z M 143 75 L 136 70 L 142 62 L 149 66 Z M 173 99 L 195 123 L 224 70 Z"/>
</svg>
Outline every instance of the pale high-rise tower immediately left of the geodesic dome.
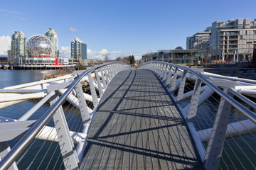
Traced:
<svg viewBox="0 0 256 170">
<path fill-rule="evenodd" d="M 14 57 L 26 57 L 26 38 L 24 33 L 21 31 L 15 31 L 11 37 L 11 60 Z"/>
</svg>

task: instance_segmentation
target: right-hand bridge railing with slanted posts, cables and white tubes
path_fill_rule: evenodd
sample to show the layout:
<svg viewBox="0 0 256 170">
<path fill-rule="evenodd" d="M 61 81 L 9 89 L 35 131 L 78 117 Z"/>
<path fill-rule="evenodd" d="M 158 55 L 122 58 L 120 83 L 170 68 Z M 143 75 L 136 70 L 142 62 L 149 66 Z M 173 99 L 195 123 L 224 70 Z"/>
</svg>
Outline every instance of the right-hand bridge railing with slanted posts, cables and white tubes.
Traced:
<svg viewBox="0 0 256 170">
<path fill-rule="evenodd" d="M 206 169 L 255 169 L 256 104 L 235 91 L 235 81 L 166 62 L 146 62 L 139 69 L 151 70 L 166 86 Z"/>
</svg>

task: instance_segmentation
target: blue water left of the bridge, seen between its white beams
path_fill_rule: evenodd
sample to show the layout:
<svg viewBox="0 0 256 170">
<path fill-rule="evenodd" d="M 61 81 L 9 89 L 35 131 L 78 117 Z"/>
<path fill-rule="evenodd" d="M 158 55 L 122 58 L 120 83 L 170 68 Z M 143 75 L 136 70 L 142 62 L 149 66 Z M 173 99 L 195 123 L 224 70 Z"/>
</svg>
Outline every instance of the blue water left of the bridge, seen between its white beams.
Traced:
<svg viewBox="0 0 256 170">
<path fill-rule="evenodd" d="M 41 79 L 44 79 L 46 74 L 51 74 L 54 71 L 52 70 L 1 70 L 0 69 L 0 89 L 3 89 L 7 86 L 15 86 L 18 84 L 26 84 L 33 81 L 40 81 Z M 36 102 L 33 101 L 24 101 L 22 103 L 18 103 L 14 106 L 9 106 L 7 108 L 0 109 L 0 116 L 6 117 L 6 118 L 13 118 L 18 119 L 26 113 L 30 108 L 32 108 Z M 45 104 L 41 106 L 41 108 L 34 113 L 31 118 L 28 120 L 37 120 L 41 117 L 43 113 L 45 113 L 50 106 L 48 104 Z M 53 123 L 50 123 L 53 124 Z M 17 141 L 11 141 L 9 142 L 9 145 L 13 147 L 16 144 Z M 39 159 L 35 160 L 34 164 L 30 164 L 33 158 L 37 154 L 37 150 L 41 147 L 41 145 L 46 145 L 46 148 L 48 145 L 51 145 L 52 147 L 56 147 L 58 144 L 48 141 L 42 141 L 42 140 L 36 140 L 35 144 L 31 149 L 28 150 L 28 154 L 21 160 L 21 162 L 18 164 L 18 169 L 26 169 L 28 166 L 30 166 L 29 169 L 37 169 L 38 164 L 41 163 L 41 160 L 43 159 L 45 150 L 42 149 L 40 155 L 38 156 Z M 46 157 L 51 157 L 50 154 L 54 155 L 53 157 L 58 158 L 59 151 L 54 152 L 54 149 L 52 152 L 48 152 L 48 155 Z M 61 164 L 61 159 L 58 159 L 58 167 Z M 42 166 L 46 167 L 48 165 L 48 162 L 43 162 Z M 53 169 L 55 166 L 55 162 L 50 162 L 48 165 L 48 169 Z"/>
</svg>

